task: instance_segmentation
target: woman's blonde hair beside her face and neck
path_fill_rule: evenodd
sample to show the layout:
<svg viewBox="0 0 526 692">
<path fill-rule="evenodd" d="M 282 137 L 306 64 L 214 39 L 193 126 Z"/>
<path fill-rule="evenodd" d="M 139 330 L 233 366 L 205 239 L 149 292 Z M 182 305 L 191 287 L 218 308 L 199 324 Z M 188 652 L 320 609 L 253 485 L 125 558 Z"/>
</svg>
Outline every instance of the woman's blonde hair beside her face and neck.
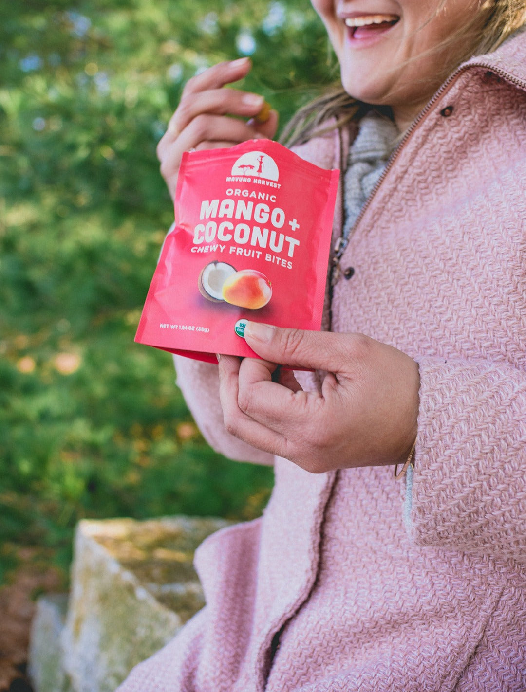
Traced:
<svg viewBox="0 0 526 692">
<path fill-rule="evenodd" d="M 447 0 L 442 0 L 437 14 L 444 10 Z M 466 26 L 433 51 L 441 50 L 466 37 L 466 48 L 456 53 L 445 66 L 444 77 L 452 73 L 462 62 L 473 55 L 484 55 L 495 51 L 514 31 L 526 24 L 526 0 L 482 0 L 480 8 Z M 420 56 L 419 56 L 420 57 Z M 324 95 L 309 102 L 292 117 L 281 134 L 281 142 L 292 146 L 313 136 L 324 134 L 333 129 L 344 127 L 350 122 L 358 122 L 370 110 L 370 104 L 353 98 L 342 88 L 341 84 L 332 86 Z M 378 111 L 389 114 L 389 107 L 376 106 Z M 331 120 L 331 125 L 326 122 Z"/>
</svg>

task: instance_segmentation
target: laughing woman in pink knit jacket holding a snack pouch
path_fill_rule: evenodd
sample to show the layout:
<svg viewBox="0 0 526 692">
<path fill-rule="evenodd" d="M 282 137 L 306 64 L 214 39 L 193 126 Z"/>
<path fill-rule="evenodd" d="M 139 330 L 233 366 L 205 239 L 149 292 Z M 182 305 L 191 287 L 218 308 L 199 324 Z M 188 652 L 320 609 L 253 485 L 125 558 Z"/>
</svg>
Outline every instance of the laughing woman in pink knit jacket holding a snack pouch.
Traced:
<svg viewBox="0 0 526 692">
<path fill-rule="evenodd" d="M 288 143 L 342 170 L 324 331 L 176 359 L 211 444 L 276 482 L 198 549 L 207 605 L 119 691 L 524 692 L 526 2 L 313 5 L 342 88 Z M 274 136 L 224 88 L 249 69 L 186 85 L 170 190 L 185 150 Z"/>
</svg>

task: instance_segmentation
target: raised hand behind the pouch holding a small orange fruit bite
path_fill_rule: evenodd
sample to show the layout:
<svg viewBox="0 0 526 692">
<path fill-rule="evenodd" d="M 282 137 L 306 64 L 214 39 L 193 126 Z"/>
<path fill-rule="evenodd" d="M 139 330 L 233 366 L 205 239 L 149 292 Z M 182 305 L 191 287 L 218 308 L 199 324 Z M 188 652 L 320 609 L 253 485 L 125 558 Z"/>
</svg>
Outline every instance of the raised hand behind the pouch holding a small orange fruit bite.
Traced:
<svg viewBox="0 0 526 692">
<path fill-rule="evenodd" d="M 250 60 L 245 57 L 233 62 L 221 62 L 186 83 L 168 129 L 157 145 L 161 175 L 172 199 L 175 197 L 177 174 L 184 152 L 189 149 L 231 147 L 248 139 L 270 139 L 276 134 L 276 111 L 270 111 L 268 120 L 262 124 L 254 120 L 265 102 L 263 96 L 222 88 L 245 77 L 251 66 Z"/>
</svg>

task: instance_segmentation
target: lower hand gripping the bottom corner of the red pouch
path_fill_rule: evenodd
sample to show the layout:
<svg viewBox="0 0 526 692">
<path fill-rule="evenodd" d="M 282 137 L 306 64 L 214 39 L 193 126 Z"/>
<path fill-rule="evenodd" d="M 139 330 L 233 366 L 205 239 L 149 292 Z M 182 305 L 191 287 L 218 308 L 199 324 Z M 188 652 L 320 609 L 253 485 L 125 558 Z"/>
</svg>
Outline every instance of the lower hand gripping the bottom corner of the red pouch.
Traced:
<svg viewBox="0 0 526 692">
<path fill-rule="evenodd" d="M 405 462 L 417 436 L 419 370 L 410 356 L 362 334 L 249 322 L 247 344 L 265 358 L 221 356 L 225 427 L 306 471 Z M 324 370 L 322 393 L 290 370 Z"/>
</svg>

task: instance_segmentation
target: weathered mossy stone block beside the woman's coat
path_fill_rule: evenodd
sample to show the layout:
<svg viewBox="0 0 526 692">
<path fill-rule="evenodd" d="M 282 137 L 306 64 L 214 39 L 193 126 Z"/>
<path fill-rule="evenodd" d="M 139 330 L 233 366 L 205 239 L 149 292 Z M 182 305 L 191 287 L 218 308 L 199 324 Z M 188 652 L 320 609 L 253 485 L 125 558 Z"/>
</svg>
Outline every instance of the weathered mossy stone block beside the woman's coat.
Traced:
<svg viewBox="0 0 526 692">
<path fill-rule="evenodd" d="M 37 692 L 66 692 L 60 684 L 69 682 L 71 692 L 114 692 L 134 665 L 164 646 L 202 608 L 193 554 L 204 538 L 228 523 L 183 516 L 81 521 L 60 655 L 50 653 L 47 664 L 30 662 L 32 670 L 43 671 L 53 657 L 61 657 L 64 677 L 58 675 L 58 686 L 51 689 L 40 686 L 44 673 L 35 673 Z M 37 637 L 35 628 L 36 621 L 36 656 L 42 634 Z"/>
</svg>

